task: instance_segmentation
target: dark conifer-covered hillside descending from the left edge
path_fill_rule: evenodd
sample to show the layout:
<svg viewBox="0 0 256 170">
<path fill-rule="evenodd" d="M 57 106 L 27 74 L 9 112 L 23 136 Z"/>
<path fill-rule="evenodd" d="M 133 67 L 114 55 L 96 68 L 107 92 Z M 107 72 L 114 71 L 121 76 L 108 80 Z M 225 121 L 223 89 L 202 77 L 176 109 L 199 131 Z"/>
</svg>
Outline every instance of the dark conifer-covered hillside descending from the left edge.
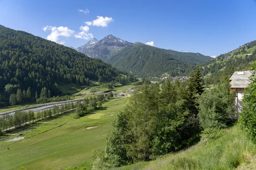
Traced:
<svg viewBox="0 0 256 170">
<path fill-rule="evenodd" d="M 20 96 L 22 91 L 29 91 L 34 98 L 44 87 L 49 96 L 56 96 L 59 83 L 89 85 L 90 79 L 111 81 L 118 73 L 100 59 L 0 25 L 1 102 L 8 102 L 11 94 Z"/>
</svg>

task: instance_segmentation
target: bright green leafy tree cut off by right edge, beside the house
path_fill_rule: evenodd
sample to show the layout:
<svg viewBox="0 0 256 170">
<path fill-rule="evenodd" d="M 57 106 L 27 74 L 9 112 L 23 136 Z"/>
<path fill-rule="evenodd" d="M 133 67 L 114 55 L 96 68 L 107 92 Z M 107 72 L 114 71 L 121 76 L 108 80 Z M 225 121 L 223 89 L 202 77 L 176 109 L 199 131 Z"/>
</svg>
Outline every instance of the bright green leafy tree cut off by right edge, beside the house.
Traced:
<svg viewBox="0 0 256 170">
<path fill-rule="evenodd" d="M 250 77 L 250 84 L 244 93 L 239 122 L 249 139 L 256 144 L 256 61 L 253 62 L 250 70 L 253 75 Z"/>
</svg>

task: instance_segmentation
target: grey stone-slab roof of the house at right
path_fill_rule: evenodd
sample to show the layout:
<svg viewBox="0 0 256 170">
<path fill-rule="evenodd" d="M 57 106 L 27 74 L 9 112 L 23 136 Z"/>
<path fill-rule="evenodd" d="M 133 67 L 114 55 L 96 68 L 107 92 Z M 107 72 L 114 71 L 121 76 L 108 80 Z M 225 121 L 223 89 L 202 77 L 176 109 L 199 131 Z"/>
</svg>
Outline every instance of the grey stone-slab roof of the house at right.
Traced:
<svg viewBox="0 0 256 170">
<path fill-rule="evenodd" d="M 247 88 L 251 75 L 252 73 L 250 71 L 235 71 L 230 77 L 231 88 Z"/>
</svg>

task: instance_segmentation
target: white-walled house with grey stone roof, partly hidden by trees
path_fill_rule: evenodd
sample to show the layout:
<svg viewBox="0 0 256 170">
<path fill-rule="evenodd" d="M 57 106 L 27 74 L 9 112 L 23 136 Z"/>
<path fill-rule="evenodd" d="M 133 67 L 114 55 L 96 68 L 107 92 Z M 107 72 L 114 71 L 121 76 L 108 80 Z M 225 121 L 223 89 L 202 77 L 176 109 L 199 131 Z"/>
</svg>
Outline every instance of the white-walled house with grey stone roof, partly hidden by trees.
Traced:
<svg viewBox="0 0 256 170">
<path fill-rule="evenodd" d="M 235 71 L 234 74 L 230 77 L 231 91 L 236 93 L 236 118 L 239 116 L 239 112 L 242 109 L 242 99 L 244 96 L 245 88 L 247 88 L 252 73 L 250 71 Z"/>
</svg>

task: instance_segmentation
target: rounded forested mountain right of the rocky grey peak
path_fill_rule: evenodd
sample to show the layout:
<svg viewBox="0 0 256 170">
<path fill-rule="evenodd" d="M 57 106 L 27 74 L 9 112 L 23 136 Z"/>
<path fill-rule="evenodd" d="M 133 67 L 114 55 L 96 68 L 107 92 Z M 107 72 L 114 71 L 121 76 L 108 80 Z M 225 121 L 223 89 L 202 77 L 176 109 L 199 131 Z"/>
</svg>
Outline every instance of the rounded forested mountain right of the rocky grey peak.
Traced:
<svg viewBox="0 0 256 170">
<path fill-rule="evenodd" d="M 123 48 L 118 54 L 106 60 L 121 71 L 138 77 L 186 76 L 197 63 L 211 59 L 199 53 L 183 53 L 156 48 L 136 42 Z"/>
</svg>

